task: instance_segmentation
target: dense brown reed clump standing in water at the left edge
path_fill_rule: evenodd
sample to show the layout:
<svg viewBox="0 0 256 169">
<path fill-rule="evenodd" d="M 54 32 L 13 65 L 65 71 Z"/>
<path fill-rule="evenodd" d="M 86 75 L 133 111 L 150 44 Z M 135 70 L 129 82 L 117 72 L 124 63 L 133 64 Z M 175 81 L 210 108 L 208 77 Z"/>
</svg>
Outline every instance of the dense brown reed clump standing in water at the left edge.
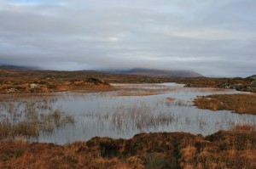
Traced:
<svg viewBox="0 0 256 169">
<path fill-rule="evenodd" d="M 0 119 L 0 139 L 20 136 L 37 138 L 40 134 L 51 133 L 55 128 L 74 123 L 73 115 L 67 115 L 61 110 L 53 110 L 51 104 L 45 100 L 23 104 L 2 102 L 1 107 L 5 116 Z"/>
</svg>

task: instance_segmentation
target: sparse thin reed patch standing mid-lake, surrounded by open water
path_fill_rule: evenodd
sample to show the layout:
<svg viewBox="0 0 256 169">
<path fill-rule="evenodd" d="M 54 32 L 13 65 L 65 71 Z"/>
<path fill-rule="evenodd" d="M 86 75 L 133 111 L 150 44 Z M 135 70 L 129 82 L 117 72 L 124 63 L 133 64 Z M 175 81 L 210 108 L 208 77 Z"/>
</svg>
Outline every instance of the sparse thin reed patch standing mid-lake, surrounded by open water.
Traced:
<svg viewBox="0 0 256 169">
<path fill-rule="evenodd" d="M 134 104 L 131 107 L 119 105 L 111 112 L 106 114 L 96 113 L 94 117 L 96 117 L 98 126 L 104 127 L 106 123 L 109 123 L 112 130 L 117 132 L 157 129 L 160 126 L 168 126 L 174 121 L 171 112 L 155 113 L 147 104 Z"/>
</svg>

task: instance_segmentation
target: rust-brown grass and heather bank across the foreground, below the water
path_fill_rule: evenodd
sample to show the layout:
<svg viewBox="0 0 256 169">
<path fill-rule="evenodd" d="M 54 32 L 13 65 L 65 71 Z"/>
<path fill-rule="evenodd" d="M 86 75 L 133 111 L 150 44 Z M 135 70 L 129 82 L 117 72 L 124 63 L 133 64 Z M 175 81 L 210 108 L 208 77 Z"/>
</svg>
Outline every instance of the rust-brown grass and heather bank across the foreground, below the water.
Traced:
<svg viewBox="0 0 256 169">
<path fill-rule="evenodd" d="M 0 168 L 256 168 L 256 131 L 141 133 L 68 145 L 0 143 Z"/>
</svg>

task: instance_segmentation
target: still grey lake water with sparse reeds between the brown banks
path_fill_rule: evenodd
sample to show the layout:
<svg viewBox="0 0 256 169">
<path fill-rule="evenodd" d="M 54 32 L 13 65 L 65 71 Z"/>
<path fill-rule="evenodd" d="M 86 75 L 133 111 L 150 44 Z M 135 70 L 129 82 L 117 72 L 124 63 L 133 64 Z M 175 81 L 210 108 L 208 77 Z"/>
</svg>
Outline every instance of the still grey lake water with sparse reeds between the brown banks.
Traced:
<svg viewBox="0 0 256 169">
<path fill-rule="evenodd" d="M 132 138 L 140 132 L 191 132 L 205 136 L 218 130 L 230 130 L 236 124 L 255 125 L 256 115 L 199 110 L 193 106 L 197 96 L 239 93 L 235 90 L 188 88 L 176 83 L 112 85 L 116 89 L 104 93 L 2 95 L 0 120 L 14 118 L 7 103 L 12 105 L 13 111 L 21 113 L 27 103 L 37 103 L 40 104 L 37 110 L 43 113 L 48 107 L 73 115 L 73 124 L 29 138 L 30 141 L 55 144 L 84 141 L 96 136 Z M 19 119 L 19 115 L 15 118 Z"/>
</svg>

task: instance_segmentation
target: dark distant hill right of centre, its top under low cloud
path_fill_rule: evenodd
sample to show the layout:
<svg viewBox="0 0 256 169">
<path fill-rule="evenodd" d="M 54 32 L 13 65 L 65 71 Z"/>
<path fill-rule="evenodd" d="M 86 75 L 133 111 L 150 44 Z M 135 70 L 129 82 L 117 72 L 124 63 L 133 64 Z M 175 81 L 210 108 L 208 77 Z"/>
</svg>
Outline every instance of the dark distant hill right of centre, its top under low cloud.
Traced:
<svg viewBox="0 0 256 169">
<path fill-rule="evenodd" d="M 132 70 L 113 70 L 112 72 L 130 75 L 143 75 L 163 78 L 176 78 L 176 77 L 203 77 L 200 73 L 190 70 L 154 70 L 135 68 Z"/>
</svg>

